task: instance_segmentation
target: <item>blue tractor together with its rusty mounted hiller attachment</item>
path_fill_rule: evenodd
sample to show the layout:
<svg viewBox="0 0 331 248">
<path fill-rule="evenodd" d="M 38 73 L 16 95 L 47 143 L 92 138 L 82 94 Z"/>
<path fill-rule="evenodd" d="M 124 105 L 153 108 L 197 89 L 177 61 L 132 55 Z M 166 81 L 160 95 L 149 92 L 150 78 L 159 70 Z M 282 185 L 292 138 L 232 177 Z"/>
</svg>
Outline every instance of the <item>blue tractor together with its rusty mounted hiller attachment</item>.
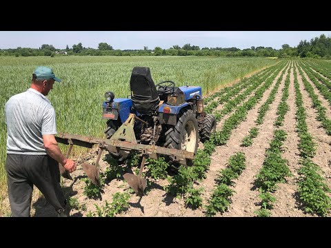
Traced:
<svg viewBox="0 0 331 248">
<path fill-rule="evenodd" d="M 154 85 L 150 68 L 135 67 L 130 79 L 130 99 L 114 99 L 106 92 L 102 118 L 107 120 L 106 138 L 81 136 L 59 132 L 58 143 L 72 147 L 98 147 L 95 165 L 82 163 L 81 167 L 94 185 L 100 187 L 99 161 L 103 152 L 109 152 L 118 161 L 125 161 L 132 152 L 142 157 L 139 174 L 123 174 L 128 185 L 139 195 L 146 188 L 142 172 L 146 159 L 165 156 L 171 165 L 192 165 L 199 140 L 204 142 L 216 130 L 214 116 L 203 111 L 202 90 L 199 86 L 176 87 L 172 81 Z M 61 175 L 72 177 L 59 164 Z"/>
</svg>

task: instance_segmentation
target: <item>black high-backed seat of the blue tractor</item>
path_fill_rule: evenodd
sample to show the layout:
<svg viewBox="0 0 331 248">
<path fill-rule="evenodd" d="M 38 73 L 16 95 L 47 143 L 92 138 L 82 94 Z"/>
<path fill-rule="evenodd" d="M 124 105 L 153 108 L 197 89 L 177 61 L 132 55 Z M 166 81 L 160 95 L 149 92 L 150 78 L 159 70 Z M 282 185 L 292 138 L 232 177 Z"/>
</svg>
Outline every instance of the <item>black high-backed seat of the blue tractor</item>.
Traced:
<svg viewBox="0 0 331 248">
<path fill-rule="evenodd" d="M 152 114 L 159 106 L 159 94 L 150 68 L 134 67 L 130 79 L 132 107 L 139 114 Z"/>
</svg>

